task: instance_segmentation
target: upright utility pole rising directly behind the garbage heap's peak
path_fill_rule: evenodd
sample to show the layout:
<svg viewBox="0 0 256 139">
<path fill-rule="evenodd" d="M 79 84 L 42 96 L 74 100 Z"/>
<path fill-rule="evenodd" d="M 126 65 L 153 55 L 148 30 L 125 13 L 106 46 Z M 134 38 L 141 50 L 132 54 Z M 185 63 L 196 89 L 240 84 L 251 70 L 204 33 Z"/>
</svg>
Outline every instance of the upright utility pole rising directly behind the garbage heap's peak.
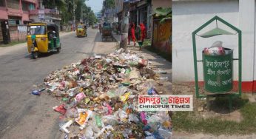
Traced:
<svg viewBox="0 0 256 139">
<path fill-rule="evenodd" d="M 122 12 L 121 42 L 120 42 L 120 47 L 124 48 L 124 50 L 127 50 L 128 30 L 129 30 L 129 3 L 124 2 L 123 12 Z"/>
</svg>

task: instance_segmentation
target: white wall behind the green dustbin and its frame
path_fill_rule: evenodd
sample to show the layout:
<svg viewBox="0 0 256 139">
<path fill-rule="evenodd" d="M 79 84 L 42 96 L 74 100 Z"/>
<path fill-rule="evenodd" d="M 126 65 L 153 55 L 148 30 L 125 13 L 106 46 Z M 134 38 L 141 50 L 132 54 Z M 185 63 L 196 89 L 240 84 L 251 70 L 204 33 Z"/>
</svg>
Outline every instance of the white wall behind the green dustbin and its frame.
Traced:
<svg viewBox="0 0 256 139">
<path fill-rule="evenodd" d="M 255 0 L 233 1 L 173 1 L 172 2 L 172 81 L 195 81 L 192 52 L 192 31 L 213 16 L 219 16 L 242 31 L 242 88 L 256 91 L 255 74 Z M 201 33 L 215 27 L 215 24 Z M 218 24 L 218 27 L 229 30 Z M 198 33 L 198 34 L 201 34 Z M 198 60 L 204 47 L 223 41 L 223 47 L 234 50 L 238 58 L 238 35 L 220 35 L 212 38 L 196 37 Z M 199 81 L 203 81 L 203 67 L 198 63 Z M 234 80 L 238 81 L 238 62 L 234 61 Z M 247 87 L 247 88 L 246 88 Z M 246 88 L 246 89 L 245 89 Z"/>
</svg>

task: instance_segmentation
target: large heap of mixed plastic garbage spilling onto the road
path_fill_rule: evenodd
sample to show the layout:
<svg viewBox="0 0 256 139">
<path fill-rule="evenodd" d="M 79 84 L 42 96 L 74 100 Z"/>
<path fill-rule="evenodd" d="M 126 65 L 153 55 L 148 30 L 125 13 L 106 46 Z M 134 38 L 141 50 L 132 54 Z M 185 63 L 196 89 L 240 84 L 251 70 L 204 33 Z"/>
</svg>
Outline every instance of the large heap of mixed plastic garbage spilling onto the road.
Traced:
<svg viewBox="0 0 256 139">
<path fill-rule="evenodd" d="M 47 75 L 47 92 L 62 102 L 53 109 L 65 138 L 169 138 L 169 112 L 138 111 L 138 95 L 158 94 L 153 82 L 161 77 L 149 65 L 120 49 Z"/>
</svg>

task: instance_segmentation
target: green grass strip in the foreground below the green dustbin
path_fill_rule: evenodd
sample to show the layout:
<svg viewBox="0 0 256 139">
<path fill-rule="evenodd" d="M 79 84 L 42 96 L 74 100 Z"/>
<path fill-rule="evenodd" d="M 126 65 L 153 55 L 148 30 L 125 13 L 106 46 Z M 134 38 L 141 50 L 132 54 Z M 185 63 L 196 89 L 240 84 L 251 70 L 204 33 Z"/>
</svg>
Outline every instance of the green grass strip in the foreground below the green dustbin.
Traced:
<svg viewBox="0 0 256 139">
<path fill-rule="evenodd" d="M 218 98 L 215 100 L 214 107 L 223 108 L 227 100 Z M 248 100 L 235 99 L 233 109 L 239 109 L 243 120 L 225 121 L 220 118 L 200 118 L 197 110 L 192 112 L 174 112 L 172 117 L 173 130 L 186 132 L 203 132 L 212 135 L 246 135 L 256 132 L 256 104 L 249 103 Z M 212 106 L 211 106 L 212 107 Z"/>
</svg>

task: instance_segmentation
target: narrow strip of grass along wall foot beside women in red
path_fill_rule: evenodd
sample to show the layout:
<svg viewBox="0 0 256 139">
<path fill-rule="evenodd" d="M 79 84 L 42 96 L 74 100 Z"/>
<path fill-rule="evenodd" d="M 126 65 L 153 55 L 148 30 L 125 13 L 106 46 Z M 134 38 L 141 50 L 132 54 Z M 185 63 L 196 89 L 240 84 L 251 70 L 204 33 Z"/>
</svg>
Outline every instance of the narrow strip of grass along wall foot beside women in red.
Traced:
<svg viewBox="0 0 256 139">
<path fill-rule="evenodd" d="M 146 50 L 149 50 L 150 52 L 155 52 L 158 55 L 161 55 L 161 57 L 165 58 L 167 61 L 172 62 L 172 55 L 167 54 L 166 52 L 161 52 L 160 50 L 155 49 L 155 47 L 151 46 L 151 41 L 149 39 L 145 39 L 143 43 L 144 48 Z"/>
</svg>

